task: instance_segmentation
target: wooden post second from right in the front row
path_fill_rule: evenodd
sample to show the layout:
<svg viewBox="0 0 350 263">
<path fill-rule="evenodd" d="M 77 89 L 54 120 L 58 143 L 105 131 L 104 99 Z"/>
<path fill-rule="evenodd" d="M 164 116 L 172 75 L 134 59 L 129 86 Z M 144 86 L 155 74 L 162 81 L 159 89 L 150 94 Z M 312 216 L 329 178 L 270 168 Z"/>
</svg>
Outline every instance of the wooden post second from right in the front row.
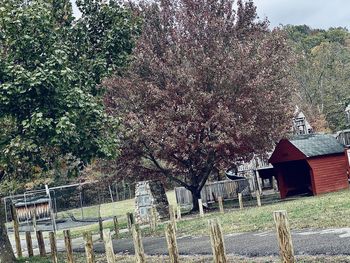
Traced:
<svg viewBox="0 0 350 263">
<path fill-rule="evenodd" d="M 211 248 L 213 250 L 214 255 L 214 263 L 225 263 L 227 262 L 227 259 L 221 226 L 217 219 L 211 219 L 208 221 L 208 223 L 210 231 Z"/>
</svg>

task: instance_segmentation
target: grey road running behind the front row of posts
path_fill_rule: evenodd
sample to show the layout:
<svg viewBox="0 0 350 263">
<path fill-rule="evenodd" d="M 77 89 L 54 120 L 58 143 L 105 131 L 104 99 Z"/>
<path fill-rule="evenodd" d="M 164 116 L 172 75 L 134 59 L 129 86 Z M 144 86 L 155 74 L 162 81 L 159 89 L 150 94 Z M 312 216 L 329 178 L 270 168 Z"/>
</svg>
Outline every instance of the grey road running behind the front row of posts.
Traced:
<svg viewBox="0 0 350 263">
<path fill-rule="evenodd" d="M 307 229 L 292 231 L 293 244 L 297 255 L 350 255 L 350 228 Z M 167 254 L 166 241 L 161 237 L 143 238 L 144 250 L 149 255 Z M 134 253 L 131 239 L 113 241 L 116 253 Z M 228 254 L 257 257 L 278 255 L 275 232 L 241 233 L 225 236 Z M 94 242 L 95 251 L 103 253 L 101 242 Z M 178 238 L 179 253 L 182 255 L 211 254 L 209 237 Z M 83 251 L 82 244 L 74 245 L 75 251 Z"/>
</svg>

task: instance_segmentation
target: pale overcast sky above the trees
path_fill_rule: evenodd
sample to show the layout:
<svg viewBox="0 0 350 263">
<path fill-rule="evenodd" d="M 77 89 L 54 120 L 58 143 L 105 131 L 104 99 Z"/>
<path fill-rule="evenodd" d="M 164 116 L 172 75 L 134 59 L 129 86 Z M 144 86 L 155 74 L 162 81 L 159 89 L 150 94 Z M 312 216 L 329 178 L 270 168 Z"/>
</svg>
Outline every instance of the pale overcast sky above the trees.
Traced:
<svg viewBox="0 0 350 263">
<path fill-rule="evenodd" d="M 254 3 L 260 18 L 267 17 L 272 27 L 306 24 L 312 28 L 350 28 L 350 0 L 254 0 Z M 76 7 L 74 12 L 79 16 Z"/>
</svg>

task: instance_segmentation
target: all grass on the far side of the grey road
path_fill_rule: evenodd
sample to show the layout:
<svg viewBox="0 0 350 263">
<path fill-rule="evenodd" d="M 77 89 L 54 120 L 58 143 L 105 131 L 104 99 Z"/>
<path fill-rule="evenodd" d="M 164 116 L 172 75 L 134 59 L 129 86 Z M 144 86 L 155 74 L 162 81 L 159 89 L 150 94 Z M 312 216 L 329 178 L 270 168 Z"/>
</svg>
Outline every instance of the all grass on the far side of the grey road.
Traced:
<svg viewBox="0 0 350 263">
<path fill-rule="evenodd" d="M 175 204 L 174 192 L 168 192 L 169 202 Z M 252 201 L 250 201 L 252 202 Z M 254 202 L 254 201 L 253 201 Z M 232 209 L 232 203 L 225 203 L 225 214 L 206 213 L 204 218 L 197 215 L 185 216 L 178 222 L 178 236 L 207 235 L 207 224 L 210 218 L 219 218 L 224 233 L 271 230 L 274 229 L 272 213 L 275 210 L 287 210 L 292 229 L 330 228 L 350 226 L 350 191 L 340 191 L 315 197 L 301 197 L 295 200 L 265 204 L 262 207 L 249 207 L 243 210 Z M 91 209 L 96 209 L 91 207 Z M 121 228 L 126 228 L 126 212 L 134 211 L 134 200 L 105 204 L 101 208 L 104 216 L 117 215 Z M 105 222 L 105 228 L 113 228 L 112 222 Z M 84 231 L 98 233 L 98 224 L 78 227 L 71 230 L 72 236 L 81 236 Z M 155 232 L 143 229 L 144 236 L 162 236 L 163 226 L 158 225 Z M 61 234 L 59 233 L 59 236 Z M 123 234 L 126 237 L 128 234 Z"/>
</svg>

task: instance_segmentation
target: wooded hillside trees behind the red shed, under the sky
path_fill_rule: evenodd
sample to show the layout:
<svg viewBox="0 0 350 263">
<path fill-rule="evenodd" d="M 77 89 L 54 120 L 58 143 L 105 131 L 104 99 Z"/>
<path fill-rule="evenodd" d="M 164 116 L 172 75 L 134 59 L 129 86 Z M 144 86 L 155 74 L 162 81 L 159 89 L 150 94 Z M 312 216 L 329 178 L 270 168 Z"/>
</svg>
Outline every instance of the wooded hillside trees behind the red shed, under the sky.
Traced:
<svg viewBox="0 0 350 263">
<path fill-rule="evenodd" d="M 345 108 L 350 102 L 349 32 L 344 28 L 315 30 L 306 25 L 287 26 L 285 30 L 298 57 L 293 71 L 299 84 L 296 103 L 306 108 L 316 130 L 323 117 L 331 130 L 345 128 Z"/>
</svg>

